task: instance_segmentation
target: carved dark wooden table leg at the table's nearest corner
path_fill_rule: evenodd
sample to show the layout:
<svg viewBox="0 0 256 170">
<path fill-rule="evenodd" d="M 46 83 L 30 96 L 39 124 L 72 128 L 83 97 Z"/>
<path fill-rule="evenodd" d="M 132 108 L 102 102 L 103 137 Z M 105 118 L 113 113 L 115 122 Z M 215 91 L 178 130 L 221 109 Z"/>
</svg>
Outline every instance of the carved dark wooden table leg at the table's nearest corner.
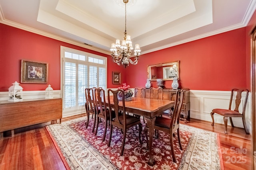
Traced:
<svg viewBox="0 0 256 170">
<path fill-rule="evenodd" d="M 156 117 L 153 117 L 152 119 L 145 117 L 147 120 L 147 124 L 148 124 L 148 136 L 149 136 L 149 142 L 148 142 L 148 152 L 149 152 L 149 160 L 148 160 L 148 164 L 150 166 L 154 165 L 154 158 L 152 155 L 152 140 L 153 140 L 153 134 L 154 134 L 154 124 L 155 124 L 155 120 Z"/>
</svg>

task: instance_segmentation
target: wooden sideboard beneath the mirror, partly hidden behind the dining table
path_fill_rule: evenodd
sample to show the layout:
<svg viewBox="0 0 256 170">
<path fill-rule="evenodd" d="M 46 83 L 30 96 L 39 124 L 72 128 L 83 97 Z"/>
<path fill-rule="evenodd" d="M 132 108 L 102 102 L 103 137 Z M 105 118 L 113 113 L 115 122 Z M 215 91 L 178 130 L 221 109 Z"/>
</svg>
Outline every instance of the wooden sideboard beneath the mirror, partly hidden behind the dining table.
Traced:
<svg viewBox="0 0 256 170">
<path fill-rule="evenodd" d="M 180 119 L 184 120 L 186 123 L 187 120 L 190 120 L 190 99 L 189 99 L 189 89 L 183 89 L 184 90 L 184 100 L 183 100 L 183 106 L 182 111 L 180 113 Z M 151 92 L 153 93 L 153 92 Z M 153 95 L 153 94 L 151 94 Z M 158 94 L 158 98 L 161 98 L 161 94 Z M 149 98 L 149 89 L 145 90 L 145 98 Z M 175 100 L 176 98 L 176 90 L 174 89 L 163 89 L 163 100 Z"/>
</svg>

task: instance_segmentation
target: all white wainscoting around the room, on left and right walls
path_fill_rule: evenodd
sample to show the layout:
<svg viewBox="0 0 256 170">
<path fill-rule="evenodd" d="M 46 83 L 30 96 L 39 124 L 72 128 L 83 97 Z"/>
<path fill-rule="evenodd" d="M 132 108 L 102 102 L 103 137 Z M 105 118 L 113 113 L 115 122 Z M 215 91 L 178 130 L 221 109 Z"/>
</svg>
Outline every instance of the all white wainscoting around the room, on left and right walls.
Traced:
<svg viewBox="0 0 256 170">
<path fill-rule="evenodd" d="M 112 89 L 112 90 L 117 90 Z M 134 89 L 132 89 L 134 92 Z M 107 95 L 107 90 L 106 90 Z M 60 98 L 60 90 L 53 90 L 53 96 Z M 208 90 L 190 90 L 190 117 L 194 119 L 200 119 L 204 121 L 212 122 L 212 117 L 210 115 L 212 109 L 214 108 L 222 108 L 228 109 L 229 100 L 230 100 L 231 91 L 208 91 Z M 23 99 L 34 99 L 34 98 L 44 98 L 45 90 L 40 91 L 23 91 L 22 92 Z M 239 110 L 242 109 L 242 105 L 244 104 L 245 96 L 242 95 L 242 102 L 240 104 Z M 8 92 L 0 92 L 0 102 L 3 100 L 8 100 Z M 234 97 L 235 100 L 235 97 Z M 234 109 L 234 106 L 232 106 Z M 62 113 L 62 117 L 69 117 L 73 115 L 78 115 L 81 113 L 85 113 L 85 109 L 79 109 L 76 111 L 70 111 Z M 241 118 L 232 118 L 234 126 L 243 127 Z M 215 123 L 222 123 L 223 116 L 218 114 L 214 114 Z M 228 121 L 230 125 L 230 122 Z M 251 121 L 251 94 L 249 93 L 248 102 L 246 106 L 246 126 L 249 132 L 252 131 L 252 121 Z"/>
</svg>

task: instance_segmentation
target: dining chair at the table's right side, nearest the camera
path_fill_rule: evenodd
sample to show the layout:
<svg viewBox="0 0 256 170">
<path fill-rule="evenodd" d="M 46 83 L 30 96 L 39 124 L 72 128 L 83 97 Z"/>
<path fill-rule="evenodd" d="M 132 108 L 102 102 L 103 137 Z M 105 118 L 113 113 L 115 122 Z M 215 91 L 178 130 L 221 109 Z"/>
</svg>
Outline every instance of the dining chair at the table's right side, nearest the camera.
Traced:
<svg viewBox="0 0 256 170">
<path fill-rule="evenodd" d="M 168 117 L 156 117 L 156 121 L 154 124 L 154 129 L 157 131 L 164 131 L 166 133 L 169 133 L 170 136 L 170 147 L 172 152 L 172 160 L 173 162 L 176 162 L 175 154 L 174 154 L 174 145 L 173 145 L 173 136 L 174 133 L 177 131 L 178 136 L 178 142 L 180 145 L 180 150 L 182 150 L 181 142 L 180 142 L 180 113 L 182 109 L 182 103 L 184 100 L 184 90 L 177 90 L 176 92 L 176 99 L 174 104 L 174 111 L 171 118 Z M 148 125 L 146 123 L 146 126 L 144 128 L 144 132 L 146 135 L 146 141 L 147 141 L 147 148 L 148 148 Z M 158 137 L 158 133 L 157 133 Z"/>
</svg>

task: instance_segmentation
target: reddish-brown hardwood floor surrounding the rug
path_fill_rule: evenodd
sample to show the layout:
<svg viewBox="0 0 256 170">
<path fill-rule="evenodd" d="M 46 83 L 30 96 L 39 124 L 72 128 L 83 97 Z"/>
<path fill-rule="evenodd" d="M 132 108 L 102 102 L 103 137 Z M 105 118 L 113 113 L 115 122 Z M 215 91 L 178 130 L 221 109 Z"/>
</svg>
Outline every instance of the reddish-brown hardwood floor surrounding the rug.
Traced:
<svg viewBox="0 0 256 170">
<path fill-rule="evenodd" d="M 83 116 L 85 114 L 62 121 Z M 196 119 L 190 119 L 186 124 L 219 133 L 225 170 L 252 169 L 251 136 L 246 135 L 244 129 L 228 127 L 228 134 L 225 134 L 221 124 L 215 123 L 212 127 L 211 122 Z M 9 134 L 4 133 L 4 139 L 0 140 L 0 170 L 65 170 L 45 125 L 47 123 L 16 129 L 14 137 L 5 137 Z"/>
</svg>

